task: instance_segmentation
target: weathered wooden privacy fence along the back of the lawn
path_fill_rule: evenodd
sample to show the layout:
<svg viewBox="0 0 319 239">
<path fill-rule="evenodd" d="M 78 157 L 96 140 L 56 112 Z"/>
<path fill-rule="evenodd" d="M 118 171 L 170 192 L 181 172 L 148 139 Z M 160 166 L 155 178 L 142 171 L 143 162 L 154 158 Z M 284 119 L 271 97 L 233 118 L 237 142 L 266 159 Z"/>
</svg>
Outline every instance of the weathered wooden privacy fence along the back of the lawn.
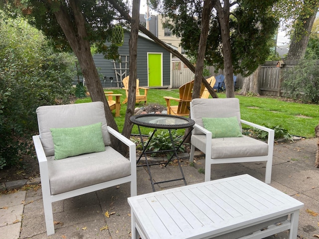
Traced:
<svg viewBox="0 0 319 239">
<path fill-rule="evenodd" d="M 279 63 L 279 64 L 278 64 Z M 267 61 L 261 66 L 258 81 L 259 88 L 262 95 L 281 96 L 282 92 L 281 82 L 283 81 L 284 72 L 290 70 L 297 64 L 297 61 Z M 225 74 L 224 70 L 218 70 L 215 73 L 213 66 L 207 67 L 210 72 L 210 76 L 217 76 L 219 74 Z M 194 73 L 189 70 L 184 63 L 179 59 L 172 61 L 172 88 L 179 88 L 181 85 L 194 79 Z M 246 78 L 237 75 L 237 82 L 235 87 L 242 88 L 243 82 Z"/>
</svg>

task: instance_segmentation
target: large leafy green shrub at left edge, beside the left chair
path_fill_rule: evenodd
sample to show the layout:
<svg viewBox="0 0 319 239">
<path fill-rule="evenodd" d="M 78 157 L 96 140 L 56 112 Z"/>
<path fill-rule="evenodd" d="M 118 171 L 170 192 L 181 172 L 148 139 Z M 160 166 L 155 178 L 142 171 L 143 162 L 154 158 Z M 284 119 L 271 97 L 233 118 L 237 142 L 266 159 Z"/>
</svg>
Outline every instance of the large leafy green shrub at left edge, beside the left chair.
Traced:
<svg viewBox="0 0 319 239">
<path fill-rule="evenodd" d="M 69 102 L 75 58 L 54 52 L 41 32 L 1 11 L 0 49 L 1 169 L 29 151 L 37 107 Z"/>
</svg>

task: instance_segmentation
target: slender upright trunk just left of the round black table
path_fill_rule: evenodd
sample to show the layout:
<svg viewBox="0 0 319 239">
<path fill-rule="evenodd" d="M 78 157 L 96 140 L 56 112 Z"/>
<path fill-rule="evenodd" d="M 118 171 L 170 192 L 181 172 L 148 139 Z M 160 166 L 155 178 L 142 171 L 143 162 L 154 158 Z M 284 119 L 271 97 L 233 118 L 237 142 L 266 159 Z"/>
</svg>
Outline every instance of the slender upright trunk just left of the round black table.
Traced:
<svg viewBox="0 0 319 239">
<path fill-rule="evenodd" d="M 131 18 L 131 37 L 130 47 L 130 78 L 129 78 L 129 95 L 127 110 L 125 114 L 124 128 L 122 134 L 130 138 L 133 123 L 130 117 L 134 115 L 136 100 L 136 79 L 137 79 L 137 54 L 138 54 L 138 36 L 140 24 L 140 0 L 133 0 L 132 18 Z"/>
</svg>

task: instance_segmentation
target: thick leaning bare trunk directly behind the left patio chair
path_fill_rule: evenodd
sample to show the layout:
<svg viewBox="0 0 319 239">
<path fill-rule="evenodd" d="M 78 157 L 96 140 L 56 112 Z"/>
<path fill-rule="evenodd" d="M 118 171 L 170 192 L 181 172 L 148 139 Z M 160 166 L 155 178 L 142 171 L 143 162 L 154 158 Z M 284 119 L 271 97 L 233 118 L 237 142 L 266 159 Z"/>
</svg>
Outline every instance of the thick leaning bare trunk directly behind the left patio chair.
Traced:
<svg viewBox="0 0 319 239">
<path fill-rule="evenodd" d="M 118 131 L 118 127 L 104 95 L 103 87 L 93 61 L 90 42 L 86 40 L 87 32 L 85 29 L 85 18 L 77 7 L 75 0 L 70 0 L 69 4 L 73 11 L 72 17 L 75 18 L 75 26 L 70 21 L 71 16 L 68 15 L 66 9 L 62 5 L 58 11 L 54 12 L 54 15 L 79 61 L 92 101 L 101 101 L 104 103 L 104 111 L 108 125 Z"/>
</svg>

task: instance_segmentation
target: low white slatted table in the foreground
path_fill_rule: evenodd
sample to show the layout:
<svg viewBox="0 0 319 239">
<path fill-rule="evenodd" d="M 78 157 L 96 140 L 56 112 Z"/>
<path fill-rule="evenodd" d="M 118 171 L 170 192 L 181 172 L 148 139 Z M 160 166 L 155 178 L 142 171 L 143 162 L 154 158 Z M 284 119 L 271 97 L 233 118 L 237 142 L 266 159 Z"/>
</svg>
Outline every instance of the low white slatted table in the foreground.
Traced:
<svg viewBox="0 0 319 239">
<path fill-rule="evenodd" d="M 247 174 L 139 195 L 128 202 L 132 239 L 262 239 L 289 229 L 289 238 L 296 239 L 304 207 Z"/>
</svg>

